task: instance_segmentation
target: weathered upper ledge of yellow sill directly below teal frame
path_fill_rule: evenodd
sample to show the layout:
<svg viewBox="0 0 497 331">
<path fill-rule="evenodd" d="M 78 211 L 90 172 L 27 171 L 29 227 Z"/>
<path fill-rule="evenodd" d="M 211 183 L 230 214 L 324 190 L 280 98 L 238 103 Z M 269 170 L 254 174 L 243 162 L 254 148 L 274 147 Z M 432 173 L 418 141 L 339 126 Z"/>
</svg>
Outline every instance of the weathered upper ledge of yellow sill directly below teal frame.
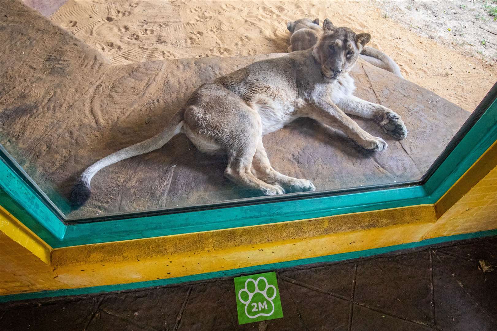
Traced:
<svg viewBox="0 0 497 331">
<path fill-rule="evenodd" d="M 102 261 L 115 262 L 173 254 L 200 254 L 218 249 L 237 250 L 246 246 L 288 240 L 302 241 L 337 233 L 418 222 L 435 222 L 435 211 L 432 205 L 393 208 L 132 241 L 56 248 L 52 251 L 52 264 L 72 265 L 99 263 Z"/>
</svg>

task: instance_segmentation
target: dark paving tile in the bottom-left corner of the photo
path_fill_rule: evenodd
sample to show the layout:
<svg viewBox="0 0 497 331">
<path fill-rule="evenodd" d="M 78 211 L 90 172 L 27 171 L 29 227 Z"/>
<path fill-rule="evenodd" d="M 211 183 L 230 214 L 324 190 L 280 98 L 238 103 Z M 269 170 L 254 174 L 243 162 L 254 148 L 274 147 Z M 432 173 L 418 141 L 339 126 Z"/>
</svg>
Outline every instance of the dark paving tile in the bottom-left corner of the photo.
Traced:
<svg viewBox="0 0 497 331">
<path fill-rule="evenodd" d="M 9 309 L 0 320 L 1 331 L 83 330 L 95 300 L 53 301 L 47 305 Z"/>
</svg>

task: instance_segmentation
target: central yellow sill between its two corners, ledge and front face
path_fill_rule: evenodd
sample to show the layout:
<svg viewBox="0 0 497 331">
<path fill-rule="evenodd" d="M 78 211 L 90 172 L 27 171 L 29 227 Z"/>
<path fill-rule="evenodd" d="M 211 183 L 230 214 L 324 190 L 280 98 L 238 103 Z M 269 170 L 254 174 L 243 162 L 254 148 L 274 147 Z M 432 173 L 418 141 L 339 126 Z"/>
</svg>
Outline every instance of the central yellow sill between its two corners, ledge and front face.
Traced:
<svg viewBox="0 0 497 331">
<path fill-rule="evenodd" d="M 289 237 L 277 241 L 267 239 L 272 238 L 271 234 L 275 235 L 277 228 L 256 226 L 231 230 L 242 234 L 238 244 L 232 240 L 232 236 L 237 237 L 236 232 L 216 231 L 198 233 L 195 234 L 196 237 L 188 239 L 185 235 L 178 235 L 154 238 L 147 242 L 140 240 L 57 248 L 53 253 L 54 273 L 59 286 L 61 283 L 63 285 L 56 289 L 141 282 L 239 269 L 413 243 L 434 238 L 433 234 L 439 235 L 444 229 L 453 231 L 444 225 L 439 228 L 433 206 L 366 212 L 348 217 L 357 217 L 357 223 L 360 223 L 388 215 L 390 220 L 399 217 L 401 221 L 365 228 L 355 227 L 349 231 L 338 228 L 317 236 Z M 338 222 L 340 217 L 342 216 L 319 221 L 323 222 L 324 229 L 329 229 L 325 222 L 330 225 Z M 318 220 L 308 220 L 305 226 L 303 221 L 301 226 L 308 228 L 311 224 L 316 224 L 313 223 L 316 221 Z M 296 226 L 295 223 L 299 222 L 288 222 L 286 226 Z M 488 230 L 488 226 L 485 224 L 482 229 L 476 227 L 474 230 Z M 450 234 L 464 233 L 465 230 L 455 230 Z M 253 238 L 254 235 L 264 236 Z"/>
</svg>

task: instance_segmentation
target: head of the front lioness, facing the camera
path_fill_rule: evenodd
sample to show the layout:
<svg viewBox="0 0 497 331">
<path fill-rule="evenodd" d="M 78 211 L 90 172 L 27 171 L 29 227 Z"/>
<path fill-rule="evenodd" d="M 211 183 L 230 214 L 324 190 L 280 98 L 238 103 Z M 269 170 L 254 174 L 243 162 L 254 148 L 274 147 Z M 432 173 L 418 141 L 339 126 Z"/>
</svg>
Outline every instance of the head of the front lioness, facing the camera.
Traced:
<svg viewBox="0 0 497 331">
<path fill-rule="evenodd" d="M 323 27 L 325 33 L 314 46 L 313 56 L 321 64 L 324 77 L 333 81 L 352 69 L 371 35 L 355 34 L 348 27 L 334 27 L 328 18 Z"/>
</svg>

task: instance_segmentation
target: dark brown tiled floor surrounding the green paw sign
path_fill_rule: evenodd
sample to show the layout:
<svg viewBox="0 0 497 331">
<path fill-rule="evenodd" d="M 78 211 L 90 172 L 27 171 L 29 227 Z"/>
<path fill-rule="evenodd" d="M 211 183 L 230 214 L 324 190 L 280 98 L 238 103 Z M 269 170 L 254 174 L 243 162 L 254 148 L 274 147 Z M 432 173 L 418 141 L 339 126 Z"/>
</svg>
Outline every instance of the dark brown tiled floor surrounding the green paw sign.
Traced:
<svg viewBox="0 0 497 331">
<path fill-rule="evenodd" d="M 497 238 L 277 270 L 284 318 L 239 326 L 233 278 L 0 306 L 1 331 L 497 330 Z"/>
</svg>

